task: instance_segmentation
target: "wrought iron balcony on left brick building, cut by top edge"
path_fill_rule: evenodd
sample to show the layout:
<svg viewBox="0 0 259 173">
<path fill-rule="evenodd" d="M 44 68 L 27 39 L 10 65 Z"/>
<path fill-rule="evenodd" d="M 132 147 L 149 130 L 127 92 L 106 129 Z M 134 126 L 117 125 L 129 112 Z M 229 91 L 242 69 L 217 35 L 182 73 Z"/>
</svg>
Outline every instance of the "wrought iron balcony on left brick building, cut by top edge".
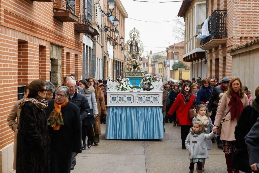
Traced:
<svg viewBox="0 0 259 173">
<path fill-rule="evenodd" d="M 54 18 L 60 22 L 77 22 L 75 0 L 54 0 Z"/>
</svg>

